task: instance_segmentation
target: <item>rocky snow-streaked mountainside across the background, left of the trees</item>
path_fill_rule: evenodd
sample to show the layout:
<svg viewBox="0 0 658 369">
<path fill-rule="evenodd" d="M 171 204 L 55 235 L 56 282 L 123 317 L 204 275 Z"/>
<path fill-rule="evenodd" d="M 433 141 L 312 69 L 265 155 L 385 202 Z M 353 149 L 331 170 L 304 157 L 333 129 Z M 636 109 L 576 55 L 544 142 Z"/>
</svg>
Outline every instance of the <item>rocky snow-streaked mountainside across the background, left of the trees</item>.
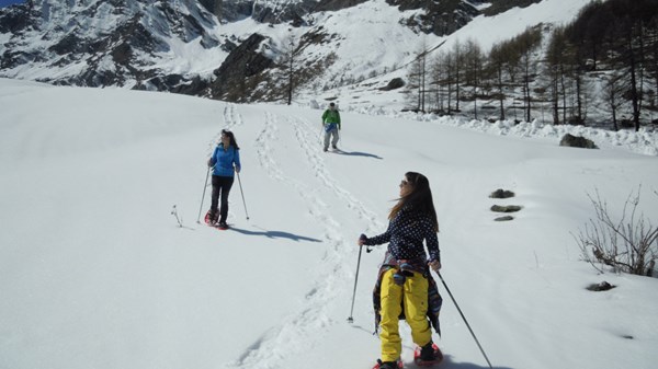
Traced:
<svg viewBox="0 0 658 369">
<path fill-rule="evenodd" d="M 0 9 L 0 77 L 273 100 L 293 69 L 308 89 L 344 84 L 399 68 L 418 39 L 532 2 L 27 0 Z"/>
</svg>

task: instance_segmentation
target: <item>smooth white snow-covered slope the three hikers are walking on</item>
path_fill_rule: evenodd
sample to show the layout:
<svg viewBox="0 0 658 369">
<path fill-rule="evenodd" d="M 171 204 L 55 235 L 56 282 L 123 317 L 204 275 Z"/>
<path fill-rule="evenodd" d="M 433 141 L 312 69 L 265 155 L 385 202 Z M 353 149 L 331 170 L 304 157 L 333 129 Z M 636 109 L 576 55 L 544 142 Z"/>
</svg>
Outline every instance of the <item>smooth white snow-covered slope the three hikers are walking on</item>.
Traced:
<svg viewBox="0 0 658 369">
<path fill-rule="evenodd" d="M 658 280 L 598 275 L 571 237 L 594 191 L 616 215 L 642 184 L 658 218 L 658 159 L 610 136 L 582 150 L 542 129 L 343 112 L 344 153 L 324 153 L 318 109 L 5 79 L 0 111 L 0 368 L 370 368 L 384 246 L 362 255 L 349 324 L 355 242 L 385 230 L 406 171 L 430 178 L 442 275 L 495 368 L 658 361 Z M 223 128 L 243 192 L 220 232 L 196 219 Z M 495 204 L 523 208 L 495 222 Z M 602 280 L 617 287 L 586 290 Z M 487 368 L 441 292 L 440 368 Z"/>
</svg>

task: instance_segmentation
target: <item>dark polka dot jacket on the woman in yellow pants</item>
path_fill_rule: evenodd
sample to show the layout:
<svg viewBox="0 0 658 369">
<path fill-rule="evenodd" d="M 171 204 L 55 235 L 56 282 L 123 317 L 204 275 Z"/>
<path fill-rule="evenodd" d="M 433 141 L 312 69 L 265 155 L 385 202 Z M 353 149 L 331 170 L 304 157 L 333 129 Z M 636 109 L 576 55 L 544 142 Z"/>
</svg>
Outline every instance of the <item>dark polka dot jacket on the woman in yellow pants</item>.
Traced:
<svg viewBox="0 0 658 369">
<path fill-rule="evenodd" d="M 422 241 L 426 241 L 430 258 L 427 258 Z M 386 232 L 365 240 L 366 245 L 388 242 L 388 252 L 398 261 L 408 260 L 413 264 L 441 261 L 439 238 L 432 218 L 424 214 L 402 208 L 388 223 Z"/>
</svg>

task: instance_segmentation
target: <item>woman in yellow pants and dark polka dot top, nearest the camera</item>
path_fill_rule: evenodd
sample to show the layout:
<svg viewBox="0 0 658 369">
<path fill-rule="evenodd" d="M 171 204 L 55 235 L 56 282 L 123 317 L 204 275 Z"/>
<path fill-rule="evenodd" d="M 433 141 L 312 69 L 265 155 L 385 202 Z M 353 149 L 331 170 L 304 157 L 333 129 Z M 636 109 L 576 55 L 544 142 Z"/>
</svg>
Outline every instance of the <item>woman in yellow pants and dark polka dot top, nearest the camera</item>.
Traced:
<svg viewBox="0 0 658 369">
<path fill-rule="evenodd" d="M 400 183 L 400 197 L 388 215 L 386 232 L 362 237 L 359 245 L 377 245 L 388 242 L 386 256 L 379 270 L 379 338 L 382 358 L 375 368 L 397 369 L 402 350 L 398 321 L 400 315 L 411 327 L 413 343 L 421 347 L 420 359 L 433 361 L 432 332 L 428 321 L 430 267 L 441 268 L 439 253 L 439 222 L 428 178 L 415 172 L 405 174 Z M 423 241 L 429 251 L 426 254 Z M 431 280 L 433 284 L 433 280 Z M 435 287 L 435 285 L 434 285 Z M 436 311 L 438 313 L 438 311 Z"/>
</svg>

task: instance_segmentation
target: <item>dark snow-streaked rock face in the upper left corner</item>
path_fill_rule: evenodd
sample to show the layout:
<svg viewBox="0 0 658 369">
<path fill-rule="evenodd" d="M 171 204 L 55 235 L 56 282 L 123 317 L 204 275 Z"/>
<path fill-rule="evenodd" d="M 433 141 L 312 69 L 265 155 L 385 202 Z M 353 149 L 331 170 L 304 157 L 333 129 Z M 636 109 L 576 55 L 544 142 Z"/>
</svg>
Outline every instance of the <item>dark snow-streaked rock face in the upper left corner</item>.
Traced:
<svg viewBox="0 0 658 369">
<path fill-rule="evenodd" d="M 46 71 L 34 79 L 54 84 L 177 91 L 198 77 L 172 80 L 157 67 L 170 42 L 222 47 L 209 32 L 216 24 L 191 0 L 29 0 L 0 9 L 0 33 L 11 35 L 0 44 L 0 76 L 13 77 L 12 69 L 30 64 Z"/>
</svg>

